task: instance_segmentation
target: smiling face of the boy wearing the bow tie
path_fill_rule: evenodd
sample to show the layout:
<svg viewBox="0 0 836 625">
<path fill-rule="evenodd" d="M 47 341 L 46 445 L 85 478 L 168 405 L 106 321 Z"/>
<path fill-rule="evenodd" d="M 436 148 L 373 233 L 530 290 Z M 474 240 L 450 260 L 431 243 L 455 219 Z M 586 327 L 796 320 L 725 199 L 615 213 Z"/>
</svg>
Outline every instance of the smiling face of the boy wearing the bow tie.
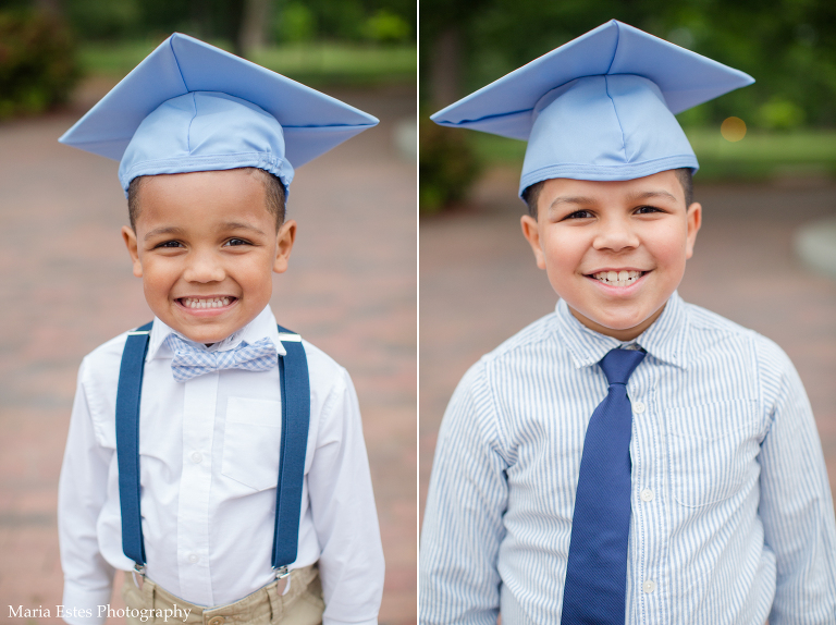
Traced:
<svg viewBox="0 0 836 625">
<path fill-rule="evenodd" d="M 276 232 L 253 170 L 155 175 L 139 191 L 136 232 L 122 229 L 148 306 L 199 343 L 222 341 L 267 306 L 287 269 L 296 223 Z"/>
</svg>

